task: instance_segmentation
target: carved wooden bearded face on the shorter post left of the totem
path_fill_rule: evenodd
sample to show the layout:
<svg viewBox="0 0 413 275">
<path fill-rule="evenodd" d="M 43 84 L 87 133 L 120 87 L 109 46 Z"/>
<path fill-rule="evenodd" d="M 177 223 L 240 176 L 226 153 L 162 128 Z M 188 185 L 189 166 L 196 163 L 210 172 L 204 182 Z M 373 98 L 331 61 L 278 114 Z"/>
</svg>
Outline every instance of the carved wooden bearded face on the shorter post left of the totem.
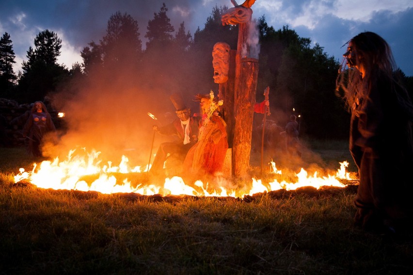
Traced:
<svg viewBox="0 0 413 275">
<path fill-rule="evenodd" d="M 218 42 L 212 50 L 212 66 L 214 67 L 214 82 L 225 83 L 228 81 L 229 51 L 230 46 L 224 42 Z"/>
</svg>

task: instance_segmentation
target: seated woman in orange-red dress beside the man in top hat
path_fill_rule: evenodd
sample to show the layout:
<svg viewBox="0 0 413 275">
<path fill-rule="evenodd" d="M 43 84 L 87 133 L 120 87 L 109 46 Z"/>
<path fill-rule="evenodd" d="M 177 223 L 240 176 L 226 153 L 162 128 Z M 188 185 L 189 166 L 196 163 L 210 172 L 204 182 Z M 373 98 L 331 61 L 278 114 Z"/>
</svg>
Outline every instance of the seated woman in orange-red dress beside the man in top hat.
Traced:
<svg viewBox="0 0 413 275">
<path fill-rule="evenodd" d="M 184 161 L 186 171 L 193 175 L 214 175 L 222 170 L 228 141 L 226 123 L 218 115 L 222 100 L 214 101 L 214 93 L 197 95 L 200 102 L 201 116 L 199 121 L 199 140 L 187 154 Z"/>
</svg>

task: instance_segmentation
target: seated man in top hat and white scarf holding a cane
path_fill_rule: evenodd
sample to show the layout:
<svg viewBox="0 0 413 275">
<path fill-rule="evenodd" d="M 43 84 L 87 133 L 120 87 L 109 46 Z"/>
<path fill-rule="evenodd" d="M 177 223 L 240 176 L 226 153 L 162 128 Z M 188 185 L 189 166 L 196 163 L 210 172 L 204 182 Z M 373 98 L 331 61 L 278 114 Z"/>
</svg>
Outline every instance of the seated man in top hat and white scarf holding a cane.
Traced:
<svg viewBox="0 0 413 275">
<path fill-rule="evenodd" d="M 158 152 L 149 170 L 152 175 L 165 176 L 163 165 L 168 153 L 170 155 L 176 154 L 183 161 L 190 148 L 198 141 L 198 122 L 194 123 L 194 118 L 191 117 L 191 109 L 186 107 L 179 93 L 172 94 L 170 99 L 175 106 L 177 118 L 166 126 L 158 127 L 158 125 L 154 125 L 153 129 L 160 135 L 175 135 L 178 140 L 163 142 L 159 145 Z"/>
</svg>

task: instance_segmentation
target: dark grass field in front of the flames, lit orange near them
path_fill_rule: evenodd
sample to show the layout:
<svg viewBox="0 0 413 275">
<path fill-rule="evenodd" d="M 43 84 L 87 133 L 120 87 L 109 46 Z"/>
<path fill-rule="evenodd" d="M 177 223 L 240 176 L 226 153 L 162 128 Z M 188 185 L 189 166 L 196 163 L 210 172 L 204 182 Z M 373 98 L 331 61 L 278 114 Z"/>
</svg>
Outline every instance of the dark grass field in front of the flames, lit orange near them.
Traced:
<svg viewBox="0 0 413 275">
<path fill-rule="evenodd" d="M 0 155 L 0 274 L 413 271 L 412 235 L 395 240 L 352 226 L 354 188 L 249 199 L 85 194 L 13 186 L 18 168 L 33 160 L 24 148 Z M 331 154 L 317 158 L 328 169 Z"/>
</svg>

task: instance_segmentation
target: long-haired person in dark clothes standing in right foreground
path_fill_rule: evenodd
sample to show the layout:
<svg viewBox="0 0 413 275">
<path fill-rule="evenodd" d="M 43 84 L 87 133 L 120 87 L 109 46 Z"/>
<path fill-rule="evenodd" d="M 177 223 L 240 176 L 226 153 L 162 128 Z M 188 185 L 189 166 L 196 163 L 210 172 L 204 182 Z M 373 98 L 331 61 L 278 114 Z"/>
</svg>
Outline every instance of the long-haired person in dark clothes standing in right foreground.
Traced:
<svg viewBox="0 0 413 275">
<path fill-rule="evenodd" d="M 413 106 L 396 80 L 390 46 L 374 32 L 353 37 L 337 78 L 351 113 L 349 150 L 359 169 L 354 221 L 394 232 L 413 217 Z"/>
</svg>

